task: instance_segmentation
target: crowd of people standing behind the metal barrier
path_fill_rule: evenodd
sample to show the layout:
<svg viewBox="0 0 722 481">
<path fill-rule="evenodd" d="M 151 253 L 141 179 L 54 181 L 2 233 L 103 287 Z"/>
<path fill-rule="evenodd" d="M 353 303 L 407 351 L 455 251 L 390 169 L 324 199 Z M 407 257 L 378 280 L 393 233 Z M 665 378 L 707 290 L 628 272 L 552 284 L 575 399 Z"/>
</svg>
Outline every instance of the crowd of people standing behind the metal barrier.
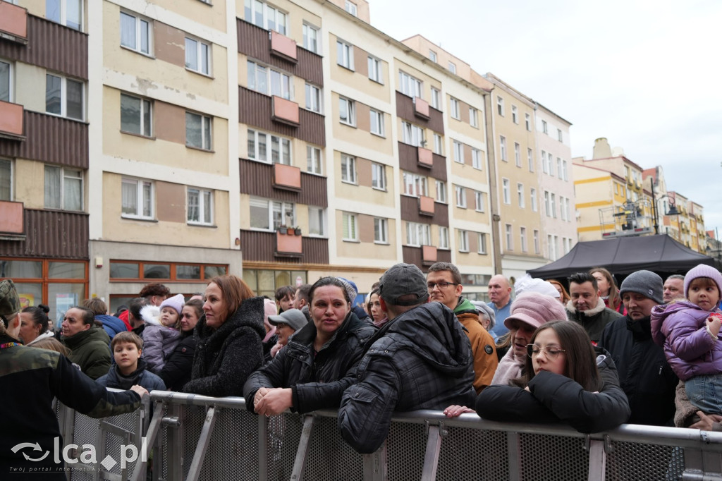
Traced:
<svg viewBox="0 0 722 481">
<path fill-rule="evenodd" d="M 422 409 L 584 433 L 622 423 L 722 429 L 722 274 L 713 267 L 664 282 L 640 270 L 619 287 L 601 267 L 566 283 L 495 275 L 489 303 L 466 298 L 447 262 L 426 274 L 396 264 L 369 287 L 356 305 L 357 285 L 342 277 L 279 287 L 274 299 L 233 275 L 189 300 L 150 284 L 114 315 L 103 300 L 84 300 L 53 332 L 48 306 L 21 310 L 6 280 L 0 387 L 19 374 L 50 378 L 31 404 L 57 397 L 94 414 L 133 409 L 153 389 L 243 396 L 266 416 L 338 409 L 342 436 L 362 453 L 383 443 L 394 411 Z M 12 371 L 11 360 L 27 365 Z M 3 405 L 25 402 L 0 391 Z M 4 465 L 21 462 L 8 459 L 12 436 L 0 439 Z"/>
</svg>

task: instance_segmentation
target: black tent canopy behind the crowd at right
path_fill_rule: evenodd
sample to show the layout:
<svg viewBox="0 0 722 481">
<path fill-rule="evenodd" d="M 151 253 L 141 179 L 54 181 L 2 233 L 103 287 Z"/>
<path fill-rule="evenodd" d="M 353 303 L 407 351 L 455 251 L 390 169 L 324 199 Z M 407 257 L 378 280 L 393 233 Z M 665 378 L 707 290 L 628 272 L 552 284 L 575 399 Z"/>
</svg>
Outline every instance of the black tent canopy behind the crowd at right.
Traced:
<svg viewBox="0 0 722 481">
<path fill-rule="evenodd" d="M 684 274 L 697 264 L 719 268 L 715 259 L 692 251 L 669 235 L 644 235 L 578 242 L 569 254 L 546 266 L 531 269 L 529 275 L 552 279 L 588 271 L 592 267 L 605 267 L 613 274 L 631 274 L 640 269 Z"/>
</svg>

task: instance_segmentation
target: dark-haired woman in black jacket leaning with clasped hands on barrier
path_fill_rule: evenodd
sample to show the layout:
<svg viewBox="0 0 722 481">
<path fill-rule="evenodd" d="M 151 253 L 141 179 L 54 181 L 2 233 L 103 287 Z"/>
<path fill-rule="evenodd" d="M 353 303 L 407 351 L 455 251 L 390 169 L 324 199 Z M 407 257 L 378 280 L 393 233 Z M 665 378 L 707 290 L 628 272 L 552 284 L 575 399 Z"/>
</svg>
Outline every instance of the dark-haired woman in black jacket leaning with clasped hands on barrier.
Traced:
<svg viewBox="0 0 722 481">
<path fill-rule="evenodd" d="M 364 343 L 376 331 L 351 312 L 349 286 L 322 277 L 308 294 L 313 322 L 297 331 L 243 386 L 249 411 L 277 415 L 287 409 L 310 412 L 339 407 L 353 382 Z"/>
</svg>

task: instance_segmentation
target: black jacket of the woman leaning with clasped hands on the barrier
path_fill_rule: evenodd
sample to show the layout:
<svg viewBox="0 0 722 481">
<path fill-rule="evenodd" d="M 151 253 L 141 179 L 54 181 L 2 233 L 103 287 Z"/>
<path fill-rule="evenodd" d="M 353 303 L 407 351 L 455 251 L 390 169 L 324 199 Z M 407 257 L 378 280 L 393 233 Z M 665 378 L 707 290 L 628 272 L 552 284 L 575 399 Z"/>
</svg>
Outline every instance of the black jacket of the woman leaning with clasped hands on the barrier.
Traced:
<svg viewBox="0 0 722 481">
<path fill-rule="evenodd" d="M 376 328 L 349 312 L 334 337 L 313 357 L 316 324 L 309 322 L 297 331 L 271 363 L 251 374 L 243 386 L 243 397 L 253 411 L 253 397 L 262 387 L 291 388 L 291 410 L 310 412 L 339 407 L 341 394 L 353 384 L 355 367 L 363 345 Z"/>
</svg>

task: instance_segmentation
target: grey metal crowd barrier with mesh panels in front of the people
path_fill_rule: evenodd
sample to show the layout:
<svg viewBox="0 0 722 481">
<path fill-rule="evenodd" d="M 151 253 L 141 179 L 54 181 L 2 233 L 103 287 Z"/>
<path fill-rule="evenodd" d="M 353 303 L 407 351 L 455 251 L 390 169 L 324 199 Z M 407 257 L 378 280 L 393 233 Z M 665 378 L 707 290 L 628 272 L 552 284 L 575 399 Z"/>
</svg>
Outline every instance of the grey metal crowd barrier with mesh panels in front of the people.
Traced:
<svg viewBox="0 0 722 481">
<path fill-rule="evenodd" d="M 142 432 L 155 446 L 153 480 L 722 480 L 716 432 L 622 425 L 585 435 L 560 425 L 417 411 L 397 413 L 382 448 L 362 455 L 341 438 L 334 411 L 264 417 L 238 397 L 153 391 L 151 399 L 152 420 Z M 144 410 L 138 416 L 147 419 L 149 406 Z M 121 428 L 129 416 L 97 425 L 107 451 L 119 446 L 115 438 L 132 437 Z M 75 416 L 76 436 L 86 424 Z M 147 464 L 72 480 L 141 481 Z"/>
</svg>

